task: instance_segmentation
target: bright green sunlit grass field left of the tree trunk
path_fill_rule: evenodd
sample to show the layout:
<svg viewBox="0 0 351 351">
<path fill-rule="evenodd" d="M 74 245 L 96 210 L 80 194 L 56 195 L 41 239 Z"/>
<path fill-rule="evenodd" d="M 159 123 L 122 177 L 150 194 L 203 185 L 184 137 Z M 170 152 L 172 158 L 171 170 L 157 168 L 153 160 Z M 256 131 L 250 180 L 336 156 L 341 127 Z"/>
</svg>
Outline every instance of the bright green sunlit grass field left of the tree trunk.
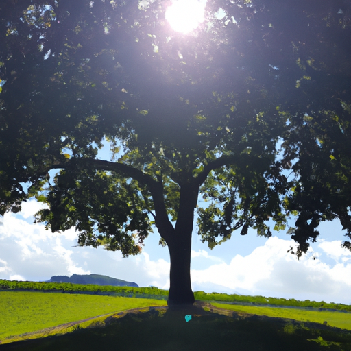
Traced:
<svg viewBox="0 0 351 351">
<path fill-rule="evenodd" d="M 0 341 L 6 337 L 131 308 L 165 306 L 165 300 L 27 291 L 0 292 Z"/>
</svg>

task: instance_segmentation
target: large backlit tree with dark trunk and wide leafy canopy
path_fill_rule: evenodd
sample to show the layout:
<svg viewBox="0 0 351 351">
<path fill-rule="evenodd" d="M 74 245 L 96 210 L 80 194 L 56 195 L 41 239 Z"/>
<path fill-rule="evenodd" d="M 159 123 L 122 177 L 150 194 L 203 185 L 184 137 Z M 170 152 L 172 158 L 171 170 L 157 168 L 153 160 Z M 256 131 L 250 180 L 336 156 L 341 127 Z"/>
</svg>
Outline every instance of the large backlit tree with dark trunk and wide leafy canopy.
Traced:
<svg viewBox="0 0 351 351">
<path fill-rule="evenodd" d="M 173 306 L 194 302 L 196 208 L 210 248 L 290 215 L 298 256 L 321 221 L 351 237 L 351 33 L 346 0 L 208 0 L 189 34 L 169 5 L 1 1 L 0 206 L 36 196 L 47 228 L 123 256 L 156 228 Z"/>
</svg>

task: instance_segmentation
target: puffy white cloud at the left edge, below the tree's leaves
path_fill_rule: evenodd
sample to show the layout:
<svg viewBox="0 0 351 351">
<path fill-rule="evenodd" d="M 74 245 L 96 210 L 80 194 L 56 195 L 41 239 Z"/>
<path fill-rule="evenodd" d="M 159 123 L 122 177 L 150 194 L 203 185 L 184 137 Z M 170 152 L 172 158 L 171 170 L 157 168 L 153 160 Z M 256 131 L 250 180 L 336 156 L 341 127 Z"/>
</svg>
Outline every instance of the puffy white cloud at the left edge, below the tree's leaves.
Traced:
<svg viewBox="0 0 351 351">
<path fill-rule="evenodd" d="M 24 215 L 22 212 L 18 215 L 6 213 L 3 217 L 3 226 L 0 226 L 1 278 L 45 280 L 62 271 L 65 274 L 85 273 L 87 270 L 70 257 L 73 251 L 66 249 L 74 245 L 72 231 L 52 233 L 45 230 L 43 224 L 28 223 L 21 219 L 30 219 L 28 213 L 29 210 L 25 208 Z"/>
</svg>

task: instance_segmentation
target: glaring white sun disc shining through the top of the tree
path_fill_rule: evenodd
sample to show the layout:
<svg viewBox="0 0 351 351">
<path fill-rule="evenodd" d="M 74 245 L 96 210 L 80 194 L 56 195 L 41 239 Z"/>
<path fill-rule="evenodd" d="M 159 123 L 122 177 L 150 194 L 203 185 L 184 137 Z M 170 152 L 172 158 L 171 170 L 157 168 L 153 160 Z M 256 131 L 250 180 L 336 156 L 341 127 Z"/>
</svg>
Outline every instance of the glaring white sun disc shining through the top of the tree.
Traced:
<svg viewBox="0 0 351 351">
<path fill-rule="evenodd" d="M 205 1 L 175 0 L 166 10 L 166 19 L 175 32 L 189 33 L 204 21 Z"/>
</svg>

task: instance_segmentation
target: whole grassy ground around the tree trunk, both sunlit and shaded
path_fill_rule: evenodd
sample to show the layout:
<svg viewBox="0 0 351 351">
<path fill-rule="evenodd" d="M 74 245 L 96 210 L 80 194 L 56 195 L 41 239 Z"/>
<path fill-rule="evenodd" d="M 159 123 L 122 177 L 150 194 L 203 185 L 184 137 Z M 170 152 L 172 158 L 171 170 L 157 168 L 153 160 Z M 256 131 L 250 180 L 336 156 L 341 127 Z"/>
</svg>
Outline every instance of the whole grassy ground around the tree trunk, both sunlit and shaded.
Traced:
<svg viewBox="0 0 351 351">
<path fill-rule="evenodd" d="M 143 296 L 126 298 L 92 295 L 93 291 L 89 295 L 58 293 L 61 291 L 59 283 L 49 283 L 56 293 L 38 289 L 25 291 L 33 290 L 32 282 L 13 283 L 0 281 L 0 287 L 6 288 L 0 290 L 0 351 L 87 351 L 97 348 L 351 351 L 351 313 L 328 311 L 325 303 L 322 304 L 324 308 L 315 310 L 268 307 L 255 302 L 261 301 L 262 297 L 239 295 L 239 299 L 251 302 L 202 302 L 204 306 L 195 306 L 192 311 L 175 313 L 167 310 L 167 291 L 157 295 L 158 289 L 154 287 L 111 287 L 119 289 L 119 293 Z M 22 291 L 19 291 L 20 287 Z M 39 287 L 48 291 L 47 285 Z M 149 299 L 151 295 L 158 299 Z M 201 291 L 196 295 L 202 300 L 235 298 L 235 295 Z M 266 303 L 274 302 L 271 298 L 264 299 Z M 289 302 L 275 300 L 280 304 Z M 319 302 L 313 303 L 321 306 Z M 305 304 L 300 302 L 302 306 Z M 350 308 L 342 306 L 343 311 Z M 186 314 L 192 315 L 191 321 L 186 322 Z"/>
</svg>

